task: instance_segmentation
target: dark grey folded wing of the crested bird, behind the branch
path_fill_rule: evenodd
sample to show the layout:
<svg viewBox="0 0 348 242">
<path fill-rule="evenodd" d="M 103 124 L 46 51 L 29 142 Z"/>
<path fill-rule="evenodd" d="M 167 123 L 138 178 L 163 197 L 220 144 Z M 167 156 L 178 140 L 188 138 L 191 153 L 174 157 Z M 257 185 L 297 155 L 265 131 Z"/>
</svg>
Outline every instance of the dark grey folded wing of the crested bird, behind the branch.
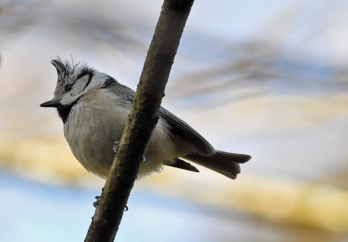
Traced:
<svg viewBox="0 0 348 242">
<path fill-rule="evenodd" d="M 125 100 L 133 103 L 135 91 L 122 85 L 116 81 L 110 83 L 107 88 L 110 88 L 114 93 Z M 180 136 L 185 141 L 190 142 L 197 152 L 203 156 L 212 156 L 215 154 L 215 149 L 205 138 L 203 138 L 196 130 L 189 126 L 186 122 L 179 119 L 177 116 L 169 112 L 167 109 L 160 107 L 159 116 L 163 118 L 171 127 L 171 132 L 174 136 Z"/>
</svg>

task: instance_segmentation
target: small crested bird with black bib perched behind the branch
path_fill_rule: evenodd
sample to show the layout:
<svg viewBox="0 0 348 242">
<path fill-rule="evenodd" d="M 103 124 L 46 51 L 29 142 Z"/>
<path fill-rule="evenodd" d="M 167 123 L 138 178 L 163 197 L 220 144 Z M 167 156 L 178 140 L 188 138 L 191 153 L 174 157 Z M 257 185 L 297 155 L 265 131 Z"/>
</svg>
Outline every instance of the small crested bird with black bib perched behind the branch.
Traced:
<svg viewBox="0 0 348 242">
<path fill-rule="evenodd" d="M 90 173 L 106 179 L 118 150 L 135 97 L 135 91 L 86 62 L 51 61 L 57 70 L 54 98 L 40 107 L 56 108 L 63 121 L 66 141 L 76 159 Z M 247 154 L 215 150 L 189 124 L 160 107 L 159 120 L 144 153 L 137 177 L 141 179 L 163 167 L 199 172 L 201 165 L 236 179 Z M 189 161 L 189 162 L 187 162 Z"/>
</svg>

